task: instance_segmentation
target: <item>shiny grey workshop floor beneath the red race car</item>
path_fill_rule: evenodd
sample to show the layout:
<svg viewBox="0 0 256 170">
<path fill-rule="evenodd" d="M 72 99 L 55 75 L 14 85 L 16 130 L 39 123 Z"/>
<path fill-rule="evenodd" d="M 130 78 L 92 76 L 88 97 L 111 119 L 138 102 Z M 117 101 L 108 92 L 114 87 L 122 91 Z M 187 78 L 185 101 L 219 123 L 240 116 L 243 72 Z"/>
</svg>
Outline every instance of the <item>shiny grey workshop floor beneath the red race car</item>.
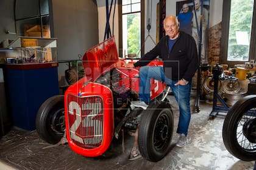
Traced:
<svg viewBox="0 0 256 170">
<path fill-rule="evenodd" d="M 183 148 L 175 146 L 176 127 L 179 118 L 177 103 L 171 98 L 174 110 L 174 135 L 172 149 L 157 163 L 139 158 L 129 161 L 127 156 L 132 148 L 133 138 L 127 135 L 122 144 L 117 143 L 110 157 L 88 158 L 71 151 L 68 144 L 43 149 L 50 144 L 41 140 L 36 131 L 13 129 L 0 140 L 0 169 L 253 169 L 254 161 L 241 161 L 226 150 L 222 141 L 222 123 L 225 115 L 219 114 L 209 119 L 212 105 L 200 103 L 200 112 L 194 112 L 191 98 L 191 117 L 188 144 Z M 4 163 L 4 164 L 3 164 Z M 6 166 L 8 165 L 8 166 Z"/>
</svg>

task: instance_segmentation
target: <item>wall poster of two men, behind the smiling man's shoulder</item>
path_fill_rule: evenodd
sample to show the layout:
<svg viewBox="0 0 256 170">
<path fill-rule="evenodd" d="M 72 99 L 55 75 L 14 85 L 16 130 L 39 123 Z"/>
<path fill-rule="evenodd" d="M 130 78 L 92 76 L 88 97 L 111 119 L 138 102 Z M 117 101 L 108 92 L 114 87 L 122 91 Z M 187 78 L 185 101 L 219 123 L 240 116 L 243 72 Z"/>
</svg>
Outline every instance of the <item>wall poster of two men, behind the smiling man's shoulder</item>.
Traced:
<svg viewBox="0 0 256 170">
<path fill-rule="evenodd" d="M 201 64 L 208 63 L 209 9 L 210 0 L 176 2 L 176 15 L 180 22 L 180 31 L 187 32 L 193 36 L 197 44 L 197 50 L 201 53 Z M 201 44 L 200 49 L 199 44 Z"/>
</svg>

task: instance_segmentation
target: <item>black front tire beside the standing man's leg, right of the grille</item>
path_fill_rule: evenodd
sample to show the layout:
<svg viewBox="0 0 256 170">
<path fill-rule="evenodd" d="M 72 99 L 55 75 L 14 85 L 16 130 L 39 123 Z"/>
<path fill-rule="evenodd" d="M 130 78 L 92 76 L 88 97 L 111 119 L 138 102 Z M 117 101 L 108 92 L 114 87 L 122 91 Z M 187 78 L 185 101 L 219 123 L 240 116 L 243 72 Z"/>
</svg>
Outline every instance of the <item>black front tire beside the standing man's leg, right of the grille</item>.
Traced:
<svg viewBox="0 0 256 170">
<path fill-rule="evenodd" d="M 168 154 L 174 128 L 171 105 L 151 104 L 143 110 L 138 131 L 138 148 L 149 161 L 159 161 Z"/>
</svg>

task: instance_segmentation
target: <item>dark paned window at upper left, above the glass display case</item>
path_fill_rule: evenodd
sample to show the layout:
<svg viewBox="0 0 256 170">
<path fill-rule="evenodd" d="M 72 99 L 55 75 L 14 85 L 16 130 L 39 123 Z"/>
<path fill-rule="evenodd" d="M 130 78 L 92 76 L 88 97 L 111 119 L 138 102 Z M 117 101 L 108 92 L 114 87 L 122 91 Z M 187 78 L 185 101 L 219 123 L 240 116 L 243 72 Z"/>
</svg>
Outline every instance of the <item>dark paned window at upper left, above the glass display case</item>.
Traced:
<svg viewBox="0 0 256 170">
<path fill-rule="evenodd" d="M 48 0 L 16 0 L 15 23 L 18 36 L 50 38 Z"/>
</svg>

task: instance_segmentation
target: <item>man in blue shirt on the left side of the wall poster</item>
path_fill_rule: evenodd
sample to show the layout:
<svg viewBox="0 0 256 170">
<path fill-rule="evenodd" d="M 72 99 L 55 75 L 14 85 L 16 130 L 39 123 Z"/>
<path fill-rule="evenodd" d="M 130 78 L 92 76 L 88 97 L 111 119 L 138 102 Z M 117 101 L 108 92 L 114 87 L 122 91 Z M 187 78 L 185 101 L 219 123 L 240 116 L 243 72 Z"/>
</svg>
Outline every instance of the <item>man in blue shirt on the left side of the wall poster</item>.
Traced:
<svg viewBox="0 0 256 170">
<path fill-rule="evenodd" d="M 182 11 L 177 15 L 177 19 L 180 22 L 180 31 L 186 32 L 192 35 L 192 17 L 193 13 L 189 10 L 188 4 L 182 5 Z"/>
</svg>

